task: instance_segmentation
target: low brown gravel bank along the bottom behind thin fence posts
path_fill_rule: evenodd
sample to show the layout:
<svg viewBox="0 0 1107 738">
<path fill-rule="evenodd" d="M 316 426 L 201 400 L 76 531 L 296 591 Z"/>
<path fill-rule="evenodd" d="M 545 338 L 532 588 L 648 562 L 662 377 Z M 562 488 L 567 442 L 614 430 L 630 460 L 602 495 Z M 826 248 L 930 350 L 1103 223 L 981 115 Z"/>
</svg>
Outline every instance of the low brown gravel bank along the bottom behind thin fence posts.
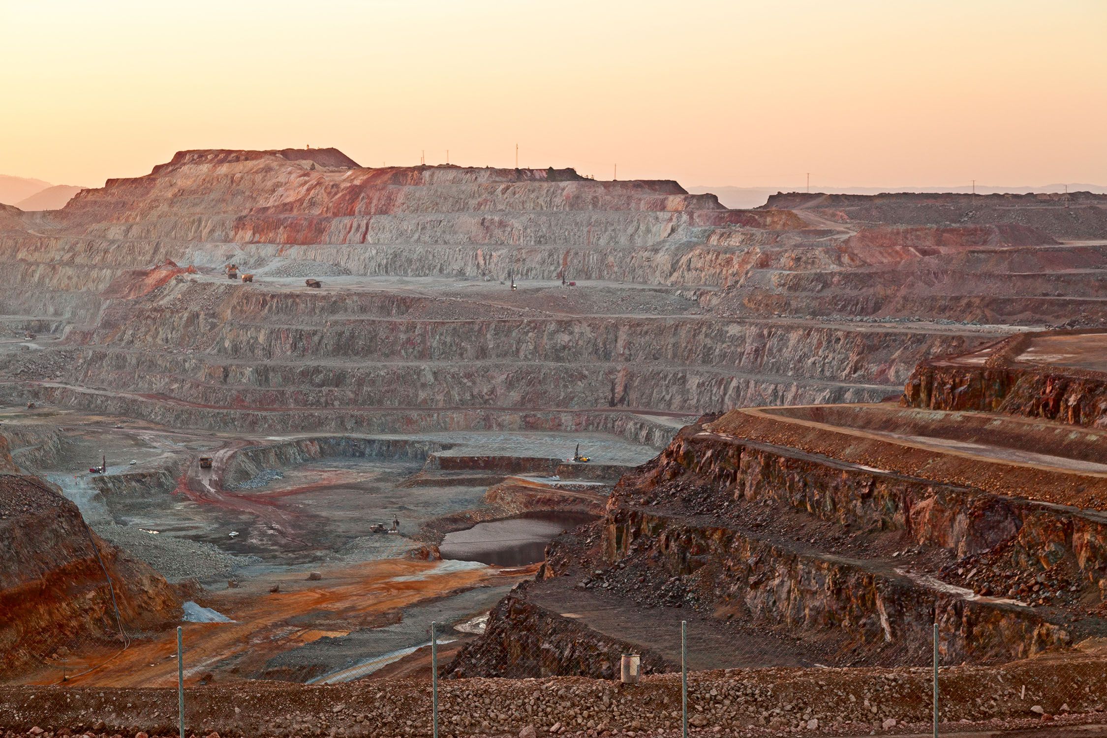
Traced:
<svg viewBox="0 0 1107 738">
<path fill-rule="evenodd" d="M 1078 671 L 1084 675 L 1073 678 L 1063 663 L 1025 662 L 943 669 L 943 735 L 1101 724 L 1104 672 Z M 925 668 L 694 672 L 689 723 L 699 736 L 929 732 L 930 678 Z M 187 728 L 196 736 L 430 736 L 430 693 L 428 679 L 333 687 L 226 683 L 186 690 Z M 0 730 L 27 735 L 41 726 L 31 735 L 63 735 L 62 729 L 80 735 L 91 727 L 108 736 L 174 735 L 174 708 L 175 692 L 167 688 L 0 687 Z M 645 677 L 634 687 L 581 677 L 459 679 L 439 684 L 438 708 L 445 736 L 675 736 L 681 677 Z"/>
</svg>

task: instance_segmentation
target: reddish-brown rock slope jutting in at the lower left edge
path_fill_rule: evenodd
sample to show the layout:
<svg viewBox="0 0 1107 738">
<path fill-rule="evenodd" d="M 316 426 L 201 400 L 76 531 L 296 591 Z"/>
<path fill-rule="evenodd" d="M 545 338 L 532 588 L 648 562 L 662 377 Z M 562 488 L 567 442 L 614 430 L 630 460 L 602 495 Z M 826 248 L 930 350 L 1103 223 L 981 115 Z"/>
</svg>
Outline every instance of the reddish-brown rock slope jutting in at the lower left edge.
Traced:
<svg viewBox="0 0 1107 738">
<path fill-rule="evenodd" d="M 92 533 L 35 477 L 0 474 L 0 674 L 179 616 L 165 579 Z"/>
</svg>

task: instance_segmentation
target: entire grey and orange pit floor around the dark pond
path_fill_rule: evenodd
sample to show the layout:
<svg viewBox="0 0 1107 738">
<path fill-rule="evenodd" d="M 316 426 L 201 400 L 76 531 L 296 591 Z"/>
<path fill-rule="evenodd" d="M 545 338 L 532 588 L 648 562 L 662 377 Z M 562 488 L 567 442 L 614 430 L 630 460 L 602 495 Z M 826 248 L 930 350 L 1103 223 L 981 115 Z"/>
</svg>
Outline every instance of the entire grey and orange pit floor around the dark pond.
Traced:
<svg viewBox="0 0 1107 738">
<path fill-rule="evenodd" d="M 581 465 L 583 471 L 618 475 L 655 454 L 603 434 L 373 436 L 382 443 L 439 448 L 461 468 L 425 469 L 417 457 L 324 456 L 262 468 L 257 484 L 248 472 L 245 480 L 251 484 L 242 485 L 241 472 L 230 484 L 226 471 L 245 449 L 288 444 L 310 449 L 335 436 L 174 430 L 49 408 L 7 408 L 0 418 L 11 424 L 10 432 L 18 429 L 29 439 L 27 448 L 15 449 L 20 458 L 38 464 L 28 470 L 61 487 L 99 534 L 172 581 L 204 582 L 204 591 L 188 599 L 234 621 L 183 624 L 190 684 L 242 678 L 304 682 L 328 674 L 372 678 L 371 669 L 360 665 L 393 652 L 414 652 L 411 658 L 418 662 L 432 620 L 448 633 L 453 623 L 490 610 L 513 584 L 535 571 L 405 558 L 410 551 L 428 555 L 426 523 L 484 510 L 489 487 L 513 478 L 509 470 L 470 471 L 466 465 L 492 456 L 508 469 L 519 458 L 563 461 L 580 443 L 602 461 Z M 89 467 L 99 465 L 102 455 L 108 459 L 107 474 L 90 474 Z M 199 469 L 200 456 L 211 456 L 214 468 Z M 132 459 L 135 465 L 128 464 Z M 561 490 L 556 482 L 517 481 L 546 490 L 545 505 L 558 496 L 578 503 L 578 498 L 591 500 L 598 493 Z M 604 492 L 613 479 L 566 484 L 570 481 Z M 497 513 L 489 508 L 488 514 Z M 517 511 L 498 514 L 513 517 Z M 370 530 L 377 522 L 391 527 L 393 517 L 401 521 L 399 533 Z M 279 591 L 270 592 L 272 586 Z M 174 632 L 135 635 L 122 653 L 110 642 L 76 644 L 70 653 L 70 673 L 99 668 L 69 684 L 172 684 Z M 452 637 L 473 636 L 453 633 Z M 401 659 L 386 665 L 385 673 L 407 668 Z M 53 684 L 60 676 L 54 668 L 43 668 L 17 680 Z"/>
</svg>

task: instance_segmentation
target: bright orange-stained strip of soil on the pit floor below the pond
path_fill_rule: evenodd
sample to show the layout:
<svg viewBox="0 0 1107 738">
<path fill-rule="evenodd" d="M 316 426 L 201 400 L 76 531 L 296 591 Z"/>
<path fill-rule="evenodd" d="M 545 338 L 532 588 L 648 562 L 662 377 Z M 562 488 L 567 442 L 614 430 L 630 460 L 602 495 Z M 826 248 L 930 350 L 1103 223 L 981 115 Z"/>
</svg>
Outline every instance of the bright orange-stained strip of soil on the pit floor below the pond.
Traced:
<svg viewBox="0 0 1107 738">
<path fill-rule="evenodd" d="M 473 586 L 508 584 L 534 574 L 534 568 L 452 569 L 448 574 L 436 574 L 441 563 L 372 561 L 320 570 L 322 579 L 318 581 L 306 581 L 304 572 L 280 573 L 206 595 L 200 604 L 235 622 L 183 624 L 185 684 L 245 677 L 278 653 L 317 638 L 397 622 L 401 609 L 420 601 Z M 270 593 L 275 584 L 280 591 Z M 151 640 L 135 640 L 122 652 L 97 648 L 72 654 L 69 672 L 77 674 L 69 677 L 68 684 L 73 686 L 175 685 L 176 628 Z M 29 672 L 18 682 L 55 684 L 59 679 L 58 669 L 43 668 Z"/>
</svg>

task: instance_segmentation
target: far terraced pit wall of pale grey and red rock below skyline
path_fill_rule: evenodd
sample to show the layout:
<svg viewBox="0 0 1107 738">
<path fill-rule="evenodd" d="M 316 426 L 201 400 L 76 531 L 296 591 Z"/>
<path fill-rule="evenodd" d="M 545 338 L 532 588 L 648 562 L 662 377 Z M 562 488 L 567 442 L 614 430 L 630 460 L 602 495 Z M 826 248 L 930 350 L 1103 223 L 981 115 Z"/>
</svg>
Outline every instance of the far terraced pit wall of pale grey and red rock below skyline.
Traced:
<svg viewBox="0 0 1107 738">
<path fill-rule="evenodd" d="M 1052 200 L 962 220 L 943 197 L 728 210 L 572 169 L 182 152 L 0 210 L 0 331 L 61 337 L 0 352 L 3 398 L 258 430 L 632 428 L 877 399 L 920 357 L 1101 312 L 1107 247 L 1058 243 Z"/>
</svg>

